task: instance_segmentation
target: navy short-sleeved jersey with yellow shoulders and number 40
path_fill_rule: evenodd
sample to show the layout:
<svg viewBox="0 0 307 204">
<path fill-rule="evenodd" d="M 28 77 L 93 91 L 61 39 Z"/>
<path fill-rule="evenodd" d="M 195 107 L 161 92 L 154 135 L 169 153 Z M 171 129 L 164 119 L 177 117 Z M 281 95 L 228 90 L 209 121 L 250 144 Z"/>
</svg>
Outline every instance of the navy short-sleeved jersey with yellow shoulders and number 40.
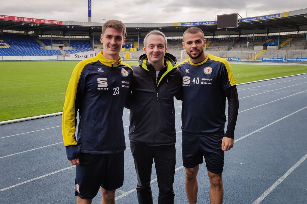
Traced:
<svg viewBox="0 0 307 204">
<path fill-rule="evenodd" d="M 177 68 L 183 77 L 182 131 L 210 134 L 224 130 L 224 89 L 237 83 L 229 63 L 207 54 L 200 63 L 194 64 L 188 59 Z"/>
</svg>

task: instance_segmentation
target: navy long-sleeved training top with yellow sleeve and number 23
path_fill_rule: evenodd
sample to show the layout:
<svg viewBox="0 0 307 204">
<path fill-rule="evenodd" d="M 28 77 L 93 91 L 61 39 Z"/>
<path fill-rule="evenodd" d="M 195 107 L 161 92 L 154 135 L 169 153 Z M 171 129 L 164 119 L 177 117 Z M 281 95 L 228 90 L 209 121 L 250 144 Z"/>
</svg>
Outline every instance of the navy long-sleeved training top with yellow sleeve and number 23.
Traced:
<svg viewBox="0 0 307 204">
<path fill-rule="evenodd" d="M 108 60 L 102 54 L 79 62 L 68 83 L 62 121 L 68 159 L 77 152 L 111 154 L 126 149 L 122 112 L 133 72 L 120 59 Z"/>
</svg>

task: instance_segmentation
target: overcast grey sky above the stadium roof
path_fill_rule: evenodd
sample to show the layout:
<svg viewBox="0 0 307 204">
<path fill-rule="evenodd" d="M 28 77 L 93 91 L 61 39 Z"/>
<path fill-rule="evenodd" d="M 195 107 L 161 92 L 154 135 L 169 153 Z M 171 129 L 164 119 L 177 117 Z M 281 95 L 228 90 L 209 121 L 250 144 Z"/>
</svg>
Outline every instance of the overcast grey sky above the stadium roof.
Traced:
<svg viewBox="0 0 307 204">
<path fill-rule="evenodd" d="M 306 0 L 92 0 L 92 22 L 175 23 L 243 18 L 307 8 Z M 1 0 L 0 15 L 87 22 L 87 0 Z"/>
</svg>

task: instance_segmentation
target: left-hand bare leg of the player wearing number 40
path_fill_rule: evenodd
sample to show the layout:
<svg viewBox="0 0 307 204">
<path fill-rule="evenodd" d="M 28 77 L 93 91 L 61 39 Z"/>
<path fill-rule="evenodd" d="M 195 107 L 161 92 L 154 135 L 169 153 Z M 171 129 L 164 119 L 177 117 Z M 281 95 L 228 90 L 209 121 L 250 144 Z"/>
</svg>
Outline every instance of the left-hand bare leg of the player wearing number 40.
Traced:
<svg viewBox="0 0 307 204">
<path fill-rule="evenodd" d="M 187 194 L 189 204 L 195 204 L 197 202 L 197 173 L 199 165 L 193 168 L 185 168 L 185 192 Z"/>
</svg>

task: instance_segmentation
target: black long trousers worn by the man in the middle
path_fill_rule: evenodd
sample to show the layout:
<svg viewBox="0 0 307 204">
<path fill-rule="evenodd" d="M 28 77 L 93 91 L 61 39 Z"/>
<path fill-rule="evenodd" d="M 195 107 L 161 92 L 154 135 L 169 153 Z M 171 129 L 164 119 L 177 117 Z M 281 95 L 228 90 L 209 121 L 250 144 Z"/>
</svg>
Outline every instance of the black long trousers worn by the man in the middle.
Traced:
<svg viewBox="0 0 307 204">
<path fill-rule="evenodd" d="M 130 141 L 137 173 L 137 196 L 139 204 L 152 204 L 150 187 L 153 161 L 156 167 L 159 187 L 158 204 L 174 203 L 174 174 L 176 165 L 176 148 L 173 145 L 149 146 L 143 142 Z"/>
</svg>

